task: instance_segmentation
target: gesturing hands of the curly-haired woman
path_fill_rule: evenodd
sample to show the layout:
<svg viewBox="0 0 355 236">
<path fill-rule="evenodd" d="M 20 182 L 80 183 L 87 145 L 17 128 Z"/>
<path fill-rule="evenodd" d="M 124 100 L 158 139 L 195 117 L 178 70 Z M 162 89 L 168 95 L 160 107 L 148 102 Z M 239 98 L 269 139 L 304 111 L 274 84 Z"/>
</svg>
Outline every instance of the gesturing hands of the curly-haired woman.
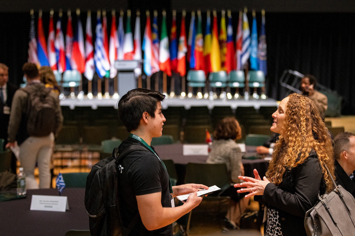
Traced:
<svg viewBox="0 0 355 236">
<path fill-rule="evenodd" d="M 249 198 L 255 195 L 263 195 L 265 187 L 270 181 L 264 176 L 263 180 L 261 180 L 258 171 L 254 169 L 255 178 L 246 177 L 246 176 L 238 176 L 239 179 L 244 180 L 245 182 L 240 184 L 235 184 L 234 187 L 238 189 L 237 192 L 250 192 L 250 194 L 245 195 L 245 198 Z"/>
</svg>

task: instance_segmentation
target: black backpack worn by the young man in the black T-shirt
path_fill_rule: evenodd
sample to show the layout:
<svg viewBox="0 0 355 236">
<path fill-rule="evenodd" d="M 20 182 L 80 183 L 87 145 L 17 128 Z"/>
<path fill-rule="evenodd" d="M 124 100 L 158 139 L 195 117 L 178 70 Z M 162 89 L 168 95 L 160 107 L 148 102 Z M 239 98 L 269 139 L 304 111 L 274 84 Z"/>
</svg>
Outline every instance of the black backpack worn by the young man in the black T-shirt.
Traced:
<svg viewBox="0 0 355 236">
<path fill-rule="evenodd" d="M 118 148 L 115 148 L 110 157 L 99 161 L 92 167 L 85 189 L 85 208 L 89 215 L 92 236 L 128 236 L 140 220 L 140 215 L 137 213 L 127 228 L 122 226 L 116 172 L 117 163 L 136 150 L 147 151 L 142 145 L 133 144 L 118 155 Z"/>
</svg>

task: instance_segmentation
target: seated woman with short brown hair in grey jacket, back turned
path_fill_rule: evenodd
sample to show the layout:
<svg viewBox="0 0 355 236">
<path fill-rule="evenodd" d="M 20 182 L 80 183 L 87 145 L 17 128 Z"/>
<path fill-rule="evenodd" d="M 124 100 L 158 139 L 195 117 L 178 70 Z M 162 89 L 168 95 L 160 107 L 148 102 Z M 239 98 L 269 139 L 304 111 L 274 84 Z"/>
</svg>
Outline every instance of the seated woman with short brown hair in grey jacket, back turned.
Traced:
<svg viewBox="0 0 355 236">
<path fill-rule="evenodd" d="M 211 152 L 208 155 L 207 163 L 225 163 L 231 183 L 240 183 L 239 175 L 244 175 L 242 164 L 242 152 L 235 142 L 241 138 L 241 128 L 234 117 L 226 117 L 221 120 L 214 133 Z M 239 228 L 241 214 L 245 211 L 249 200 L 242 197 L 234 189 L 230 194 L 232 203 L 226 215 L 226 221 L 231 228 Z M 242 198 L 242 199 L 240 199 Z"/>
</svg>

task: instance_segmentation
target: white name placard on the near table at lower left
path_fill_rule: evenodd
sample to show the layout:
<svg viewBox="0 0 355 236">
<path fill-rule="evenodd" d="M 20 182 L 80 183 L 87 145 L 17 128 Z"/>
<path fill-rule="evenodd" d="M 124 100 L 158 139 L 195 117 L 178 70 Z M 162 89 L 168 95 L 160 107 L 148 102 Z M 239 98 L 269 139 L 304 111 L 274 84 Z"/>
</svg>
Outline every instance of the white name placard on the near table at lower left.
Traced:
<svg viewBox="0 0 355 236">
<path fill-rule="evenodd" d="M 65 212 L 69 210 L 66 196 L 32 195 L 30 210 Z"/>
</svg>

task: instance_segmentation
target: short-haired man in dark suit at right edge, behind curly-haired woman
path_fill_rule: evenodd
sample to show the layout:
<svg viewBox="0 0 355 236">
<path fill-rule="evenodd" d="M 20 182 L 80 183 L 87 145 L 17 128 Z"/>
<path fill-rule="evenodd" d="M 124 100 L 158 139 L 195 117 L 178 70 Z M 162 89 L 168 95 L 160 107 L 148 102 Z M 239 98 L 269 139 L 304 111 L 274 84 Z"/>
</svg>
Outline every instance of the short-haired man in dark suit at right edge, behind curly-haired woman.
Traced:
<svg viewBox="0 0 355 236">
<path fill-rule="evenodd" d="M 335 182 L 355 197 L 355 134 L 339 133 L 334 139 Z"/>
</svg>

